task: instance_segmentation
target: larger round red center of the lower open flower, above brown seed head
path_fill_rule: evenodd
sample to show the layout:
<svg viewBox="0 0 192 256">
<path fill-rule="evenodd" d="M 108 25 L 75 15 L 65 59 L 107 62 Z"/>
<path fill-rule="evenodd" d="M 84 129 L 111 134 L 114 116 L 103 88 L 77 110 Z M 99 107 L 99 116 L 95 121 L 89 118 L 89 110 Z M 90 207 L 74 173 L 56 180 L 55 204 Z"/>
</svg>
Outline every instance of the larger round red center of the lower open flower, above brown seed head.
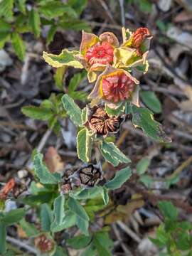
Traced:
<svg viewBox="0 0 192 256">
<path fill-rule="evenodd" d="M 124 73 L 117 73 L 102 79 L 102 92 L 106 100 L 119 102 L 130 97 L 134 81 Z"/>
</svg>

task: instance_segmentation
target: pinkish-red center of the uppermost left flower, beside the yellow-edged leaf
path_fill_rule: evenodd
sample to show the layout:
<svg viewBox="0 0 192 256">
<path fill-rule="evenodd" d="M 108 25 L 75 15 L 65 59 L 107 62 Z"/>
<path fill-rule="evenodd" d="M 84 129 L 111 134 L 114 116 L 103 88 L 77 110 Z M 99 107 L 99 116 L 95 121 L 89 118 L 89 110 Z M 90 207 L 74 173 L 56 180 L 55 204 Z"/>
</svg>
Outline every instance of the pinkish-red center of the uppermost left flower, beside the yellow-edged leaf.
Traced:
<svg viewBox="0 0 192 256">
<path fill-rule="evenodd" d="M 113 47 L 110 43 L 102 42 L 96 43 L 94 46 L 91 46 L 87 53 L 85 54 L 85 58 L 87 58 L 88 63 L 93 65 L 95 63 L 100 64 L 110 64 L 113 61 Z"/>
</svg>

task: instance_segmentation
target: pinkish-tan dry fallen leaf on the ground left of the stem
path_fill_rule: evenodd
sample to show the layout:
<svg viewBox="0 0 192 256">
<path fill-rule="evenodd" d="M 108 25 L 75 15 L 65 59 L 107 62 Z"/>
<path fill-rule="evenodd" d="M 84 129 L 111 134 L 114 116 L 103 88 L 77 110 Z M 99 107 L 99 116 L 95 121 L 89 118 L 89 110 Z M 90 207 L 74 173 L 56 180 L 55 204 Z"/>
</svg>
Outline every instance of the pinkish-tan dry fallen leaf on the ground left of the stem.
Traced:
<svg viewBox="0 0 192 256">
<path fill-rule="evenodd" d="M 50 146 L 46 151 L 45 162 L 51 173 L 62 171 L 65 166 L 58 151 L 53 146 Z"/>
</svg>

